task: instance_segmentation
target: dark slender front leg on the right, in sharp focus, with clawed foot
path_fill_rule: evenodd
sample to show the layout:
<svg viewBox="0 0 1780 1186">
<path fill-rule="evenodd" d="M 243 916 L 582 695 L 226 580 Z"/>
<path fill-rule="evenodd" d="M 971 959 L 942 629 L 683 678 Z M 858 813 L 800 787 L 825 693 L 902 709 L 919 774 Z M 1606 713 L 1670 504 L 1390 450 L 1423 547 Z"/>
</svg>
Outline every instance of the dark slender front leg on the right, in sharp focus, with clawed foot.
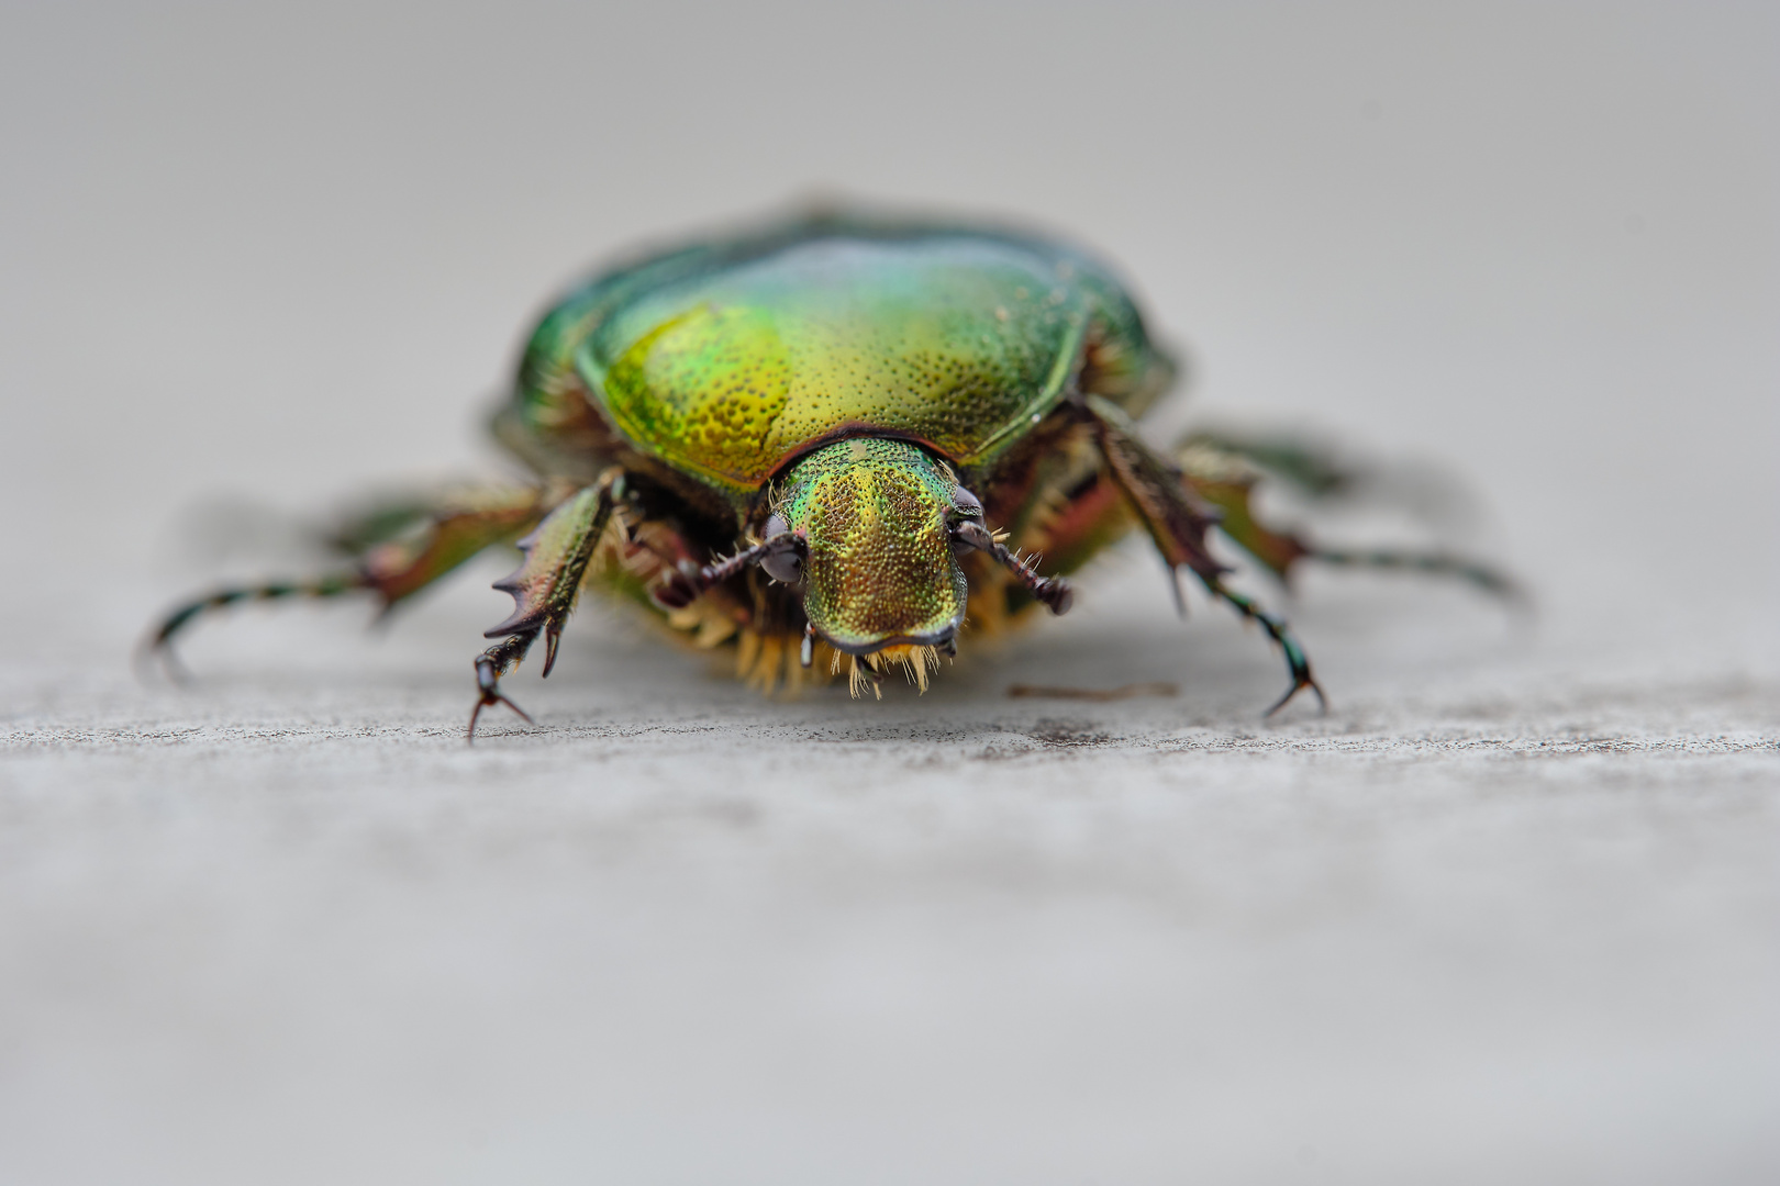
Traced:
<svg viewBox="0 0 1780 1186">
<path fill-rule="evenodd" d="M 1271 717 L 1285 708 L 1305 688 L 1315 693 L 1317 704 L 1326 706 L 1323 688 L 1317 686 L 1315 676 L 1310 674 L 1310 660 L 1305 656 L 1305 649 L 1298 644 L 1298 638 L 1285 626 L 1285 621 L 1264 610 L 1255 599 L 1225 585 L 1223 576 L 1228 569 L 1218 564 L 1205 546 L 1205 533 L 1218 523 L 1216 510 L 1202 503 L 1189 491 L 1180 469 L 1173 462 L 1157 455 L 1137 439 L 1134 425 L 1116 404 L 1096 395 L 1088 395 L 1082 397 L 1080 407 L 1093 425 L 1095 441 L 1100 446 L 1112 480 L 1118 482 L 1137 510 L 1139 519 L 1143 519 L 1143 525 L 1150 532 L 1150 539 L 1155 541 L 1157 551 L 1162 553 L 1162 562 L 1168 565 L 1169 574 L 1178 573 L 1182 567 L 1191 569 L 1214 597 L 1219 597 L 1237 613 L 1258 624 L 1278 644 L 1292 683 L 1285 690 L 1285 695 L 1267 709 L 1267 715 Z M 1178 599 L 1178 589 L 1175 596 Z"/>
</svg>

